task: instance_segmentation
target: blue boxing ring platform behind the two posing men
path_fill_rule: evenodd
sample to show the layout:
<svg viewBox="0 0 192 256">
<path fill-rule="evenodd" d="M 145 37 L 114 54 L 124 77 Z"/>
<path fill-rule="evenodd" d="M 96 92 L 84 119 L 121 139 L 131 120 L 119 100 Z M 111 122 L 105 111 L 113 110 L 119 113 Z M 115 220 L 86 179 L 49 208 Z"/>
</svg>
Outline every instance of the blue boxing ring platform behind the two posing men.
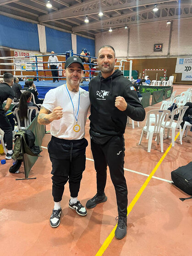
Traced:
<svg viewBox="0 0 192 256">
<path fill-rule="evenodd" d="M 24 87 L 25 82 L 24 81 L 20 81 L 19 82 L 22 86 L 22 88 Z M 66 83 L 66 80 L 59 80 L 59 83 L 57 81 L 55 81 L 55 83 L 53 83 L 53 81 L 34 81 L 34 84 L 36 85 L 36 88 L 38 90 L 38 98 L 39 99 L 44 99 L 45 94 L 50 90 L 50 89 L 54 89 L 62 84 Z M 88 91 L 88 83 L 87 81 L 83 81 L 83 84 L 80 86 L 82 89 Z"/>
</svg>

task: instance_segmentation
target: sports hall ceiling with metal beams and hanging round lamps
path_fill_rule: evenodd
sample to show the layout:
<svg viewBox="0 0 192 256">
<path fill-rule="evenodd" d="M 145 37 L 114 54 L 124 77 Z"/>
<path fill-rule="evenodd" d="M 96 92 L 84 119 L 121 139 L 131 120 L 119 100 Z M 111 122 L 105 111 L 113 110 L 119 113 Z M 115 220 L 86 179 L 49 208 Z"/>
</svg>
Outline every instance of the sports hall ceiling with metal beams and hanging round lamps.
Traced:
<svg viewBox="0 0 192 256">
<path fill-rule="evenodd" d="M 0 0 L 0 14 L 94 38 L 138 23 L 192 17 L 192 0 Z M 154 4 L 158 11 L 154 12 Z M 99 12 L 103 16 L 99 17 Z M 84 20 L 88 16 L 88 23 Z"/>
</svg>

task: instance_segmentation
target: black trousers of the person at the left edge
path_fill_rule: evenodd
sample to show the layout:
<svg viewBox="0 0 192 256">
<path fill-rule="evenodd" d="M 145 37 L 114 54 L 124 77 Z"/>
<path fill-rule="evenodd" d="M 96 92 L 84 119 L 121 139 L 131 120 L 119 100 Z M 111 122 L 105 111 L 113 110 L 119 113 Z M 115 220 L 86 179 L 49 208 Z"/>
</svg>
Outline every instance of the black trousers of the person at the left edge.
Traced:
<svg viewBox="0 0 192 256">
<path fill-rule="evenodd" d="M 7 143 L 7 150 L 12 150 L 13 148 L 13 134 L 11 123 L 8 118 L 5 116 L 4 111 L 0 110 L 0 128 L 4 131 L 5 140 Z"/>
</svg>

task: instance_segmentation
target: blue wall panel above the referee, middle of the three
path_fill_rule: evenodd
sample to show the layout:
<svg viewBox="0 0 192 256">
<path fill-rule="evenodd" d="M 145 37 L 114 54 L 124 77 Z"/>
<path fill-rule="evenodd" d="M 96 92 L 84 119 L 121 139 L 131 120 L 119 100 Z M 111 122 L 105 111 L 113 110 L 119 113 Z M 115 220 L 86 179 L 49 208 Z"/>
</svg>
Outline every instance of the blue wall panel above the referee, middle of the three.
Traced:
<svg viewBox="0 0 192 256">
<path fill-rule="evenodd" d="M 64 53 L 72 49 L 71 33 L 45 27 L 47 51 Z"/>
</svg>

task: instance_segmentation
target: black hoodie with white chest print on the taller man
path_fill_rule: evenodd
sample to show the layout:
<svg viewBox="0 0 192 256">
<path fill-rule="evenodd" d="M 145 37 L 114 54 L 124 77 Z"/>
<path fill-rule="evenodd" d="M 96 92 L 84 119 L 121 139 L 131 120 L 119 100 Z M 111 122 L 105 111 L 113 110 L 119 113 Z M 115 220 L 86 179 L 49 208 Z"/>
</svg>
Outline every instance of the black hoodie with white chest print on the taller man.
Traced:
<svg viewBox="0 0 192 256">
<path fill-rule="evenodd" d="M 122 96 L 127 102 L 125 111 L 115 107 L 115 98 Z M 127 116 L 143 121 L 145 110 L 130 80 L 117 69 L 108 78 L 101 73 L 89 83 L 91 102 L 90 128 L 99 134 L 120 135 L 125 133 Z"/>
</svg>

